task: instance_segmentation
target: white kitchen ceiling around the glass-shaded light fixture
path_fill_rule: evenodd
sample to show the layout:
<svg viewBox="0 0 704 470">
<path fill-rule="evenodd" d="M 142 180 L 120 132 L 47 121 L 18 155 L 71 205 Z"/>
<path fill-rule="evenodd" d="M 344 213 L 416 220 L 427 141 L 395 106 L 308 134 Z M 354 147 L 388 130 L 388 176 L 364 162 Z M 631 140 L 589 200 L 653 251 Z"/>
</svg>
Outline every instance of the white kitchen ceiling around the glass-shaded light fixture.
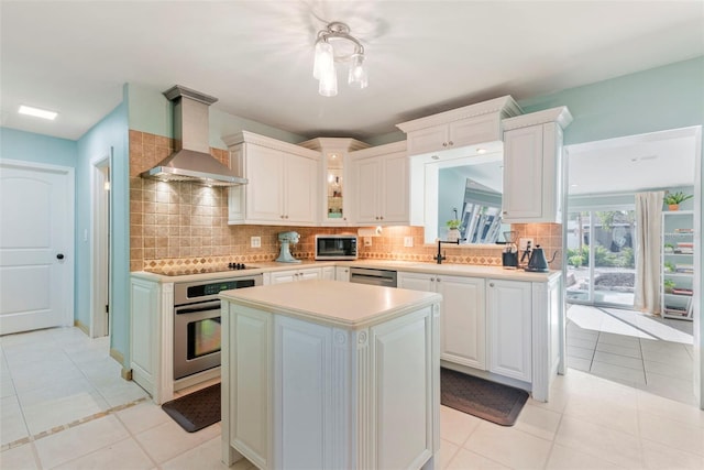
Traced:
<svg viewBox="0 0 704 470">
<path fill-rule="evenodd" d="M 693 1 L 4 1 L 1 121 L 76 140 L 122 85 L 178 84 L 304 136 L 364 140 L 503 95 L 516 99 L 704 55 Z M 317 94 L 316 32 L 346 22 L 370 86 Z M 342 78 L 342 74 L 340 75 Z M 341 80 L 342 81 L 342 80 Z M 59 112 L 55 122 L 20 103 Z"/>
</svg>

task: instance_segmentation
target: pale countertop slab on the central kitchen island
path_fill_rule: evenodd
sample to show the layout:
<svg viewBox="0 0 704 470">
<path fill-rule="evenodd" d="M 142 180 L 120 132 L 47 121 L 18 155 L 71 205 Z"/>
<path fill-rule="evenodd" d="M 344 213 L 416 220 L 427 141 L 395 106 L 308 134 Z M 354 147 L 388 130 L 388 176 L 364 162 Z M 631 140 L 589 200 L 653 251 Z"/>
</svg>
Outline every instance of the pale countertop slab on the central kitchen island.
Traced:
<svg viewBox="0 0 704 470">
<path fill-rule="evenodd" d="M 220 298 L 348 329 L 366 328 L 442 300 L 429 292 L 321 280 L 223 291 Z"/>
</svg>

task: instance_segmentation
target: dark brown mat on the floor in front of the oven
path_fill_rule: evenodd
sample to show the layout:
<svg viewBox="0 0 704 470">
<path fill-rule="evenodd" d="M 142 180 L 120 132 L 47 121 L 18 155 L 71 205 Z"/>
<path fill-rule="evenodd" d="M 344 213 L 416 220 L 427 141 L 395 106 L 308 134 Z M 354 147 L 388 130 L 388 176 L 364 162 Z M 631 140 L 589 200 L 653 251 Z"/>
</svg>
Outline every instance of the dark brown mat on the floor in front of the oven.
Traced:
<svg viewBox="0 0 704 470">
<path fill-rule="evenodd" d="M 216 424 L 220 420 L 220 384 L 166 402 L 162 409 L 188 433 Z"/>
</svg>

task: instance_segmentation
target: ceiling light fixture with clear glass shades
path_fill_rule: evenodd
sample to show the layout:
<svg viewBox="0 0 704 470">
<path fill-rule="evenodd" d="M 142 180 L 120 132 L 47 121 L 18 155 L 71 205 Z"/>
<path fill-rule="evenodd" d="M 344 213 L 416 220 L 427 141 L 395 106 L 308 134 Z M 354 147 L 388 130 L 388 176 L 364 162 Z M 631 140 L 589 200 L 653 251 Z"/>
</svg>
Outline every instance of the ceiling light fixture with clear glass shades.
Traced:
<svg viewBox="0 0 704 470">
<path fill-rule="evenodd" d="M 336 50 L 337 47 L 337 50 Z M 364 67 L 364 46 L 350 35 L 350 26 L 339 21 L 318 32 L 312 76 L 319 80 L 318 92 L 322 96 L 338 95 L 336 62 L 349 62 L 348 84 L 366 88 L 369 78 Z"/>
</svg>

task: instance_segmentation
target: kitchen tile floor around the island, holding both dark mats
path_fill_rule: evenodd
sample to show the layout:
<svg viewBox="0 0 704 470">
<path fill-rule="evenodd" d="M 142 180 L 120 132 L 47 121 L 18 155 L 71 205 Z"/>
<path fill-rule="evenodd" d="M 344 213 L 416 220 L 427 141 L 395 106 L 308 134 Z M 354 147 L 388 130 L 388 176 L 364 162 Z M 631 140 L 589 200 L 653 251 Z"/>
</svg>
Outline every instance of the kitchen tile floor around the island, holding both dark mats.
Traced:
<svg viewBox="0 0 704 470">
<path fill-rule="evenodd" d="M 220 424 L 188 434 L 161 407 L 142 400 L 143 395 L 130 386 L 133 384 L 108 384 L 110 378 L 96 379 L 101 367 L 112 368 L 107 358 L 107 342 L 80 335 L 75 329 L 54 329 L 0 338 L 3 400 L 0 468 L 224 468 L 220 462 Z M 40 339 L 47 345 L 42 346 L 43 352 L 28 347 L 37 345 Z M 24 348 L 20 349 L 22 343 Z M 20 357 L 25 365 L 13 365 Z M 87 365 L 90 362 L 95 362 L 92 367 Z M 32 373 L 25 372 L 30 370 Z M 119 368 L 114 370 L 119 376 Z M 58 395 L 36 392 L 46 390 L 64 374 L 70 376 L 67 383 L 76 382 L 74 387 L 64 385 Z M 86 389 L 79 391 L 78 385 Z M 114 392 L 109 391 L 110 386 L 116 387 Z M 35 395 L 32 400 L 24 398 L 31 390 L 35 390 Z M 441 407 L 439 468 L 704 468 L 704 412 L 692 405 L 579 370 L 557 378 L 551 392 L 549 403 L 529 400 L 513 427 L 496 426 Z M 78 411 L 63 417 L 62 408 L 78 409 L 78 403 L 82 402 L 90 404 L 86 405 L 90 416 L 86 422 L 76 422 Z M 123 402 L 122 406 L 118 402 Z M 74 404 L 64 406 L 69 403 Z M 43 413 L 32 412 L 40 406 L 44 406 Z M 102 413 L 95 413 L 96 409 Z M 40 415 L 41 419 L 36 417 Z M 62 419 L 72 425 L 57 428 L 55 425 Z M 21 425 L 32 437 L 25 440 L 19 437 L 22 433 L 16 429 Z M 47 426 L 54 430 L 36 435 Z M 6 429 L 13 434 L 6 437 Z M 232 468 L 252 467 L 238 462 Z"/>
</svg>

